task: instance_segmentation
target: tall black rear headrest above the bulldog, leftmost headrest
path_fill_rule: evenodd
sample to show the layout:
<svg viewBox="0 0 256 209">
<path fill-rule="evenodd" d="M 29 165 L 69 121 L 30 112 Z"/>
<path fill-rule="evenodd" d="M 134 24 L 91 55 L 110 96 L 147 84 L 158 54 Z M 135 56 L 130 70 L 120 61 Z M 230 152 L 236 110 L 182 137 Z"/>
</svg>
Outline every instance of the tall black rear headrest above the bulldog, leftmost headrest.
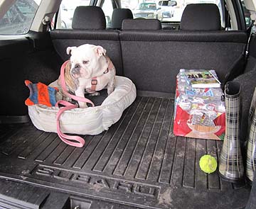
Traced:
<svg viewBox="0 0 256 209">
<path fill-rule="evenodd" d="M 74 12 L 72 28 L 104 30 L 106 29 L 105 14 L 99 6 L 78 6 Z"/>
</svg>

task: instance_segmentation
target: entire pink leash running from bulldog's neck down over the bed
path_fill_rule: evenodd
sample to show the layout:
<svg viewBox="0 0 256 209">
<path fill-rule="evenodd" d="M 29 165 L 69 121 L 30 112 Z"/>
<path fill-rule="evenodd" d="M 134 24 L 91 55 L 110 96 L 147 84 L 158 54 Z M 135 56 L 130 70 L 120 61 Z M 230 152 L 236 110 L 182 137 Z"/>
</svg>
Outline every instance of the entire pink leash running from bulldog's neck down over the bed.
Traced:
<svg viewBox="0 0 256 209">
<path fill-rule="evenodd" d="M 63 63 L 63 65 L 61 66 L 61 68 L 60 68 L 60 86 L 63 89 L 63 93 L 66 96 L 68 96 L 70 98 L 73 98 L 76 101 L 82 101 L 82 102 L 90 103 L 90 104 L 92 104 L 92 107 L 94 107 L 95 105 L 94 105 L 94 103 L 92 103 L 92 101 L 90 101 L 90 99 L 83 98 L 83 97 L 80 97 L 80 96 L 75 96 L 75 95 L 72 95 L 72 94 L 68 93 L 67 86 L 65 84 L 65 79 L 64 79 L 65 67 L 68 64 L 68 62 L 69 62 L 69 60 L 65 61 Z M 74 146 L 74 147 L 82 147 L 83 145 L 85 145 L 85 140 L 82 137 L 72 136 L 72 135 L 65 135 L 60 130 L 60 115 L 64 111 L 68 111 L 68 110 L 72 110 L 74 108 L 78 108 L 78 106 L 74 105 L 73 103 L 69 103 L 68 101 L 63 101 L 63 100 L 58 101 L 55 104 L 55 106 L 58 107 L 59 104 L 65 106 L 63 108 L 60 108 L 60 110 L 57 113 L 57 132 L 58 132 L 58 136 L 60 137 L 60 140 L 63 140 L 63 142 L 65 142 L 66 144 Z M 70 140 L 75 141 L 75 142 L 72 142 Z"/>
</svg>

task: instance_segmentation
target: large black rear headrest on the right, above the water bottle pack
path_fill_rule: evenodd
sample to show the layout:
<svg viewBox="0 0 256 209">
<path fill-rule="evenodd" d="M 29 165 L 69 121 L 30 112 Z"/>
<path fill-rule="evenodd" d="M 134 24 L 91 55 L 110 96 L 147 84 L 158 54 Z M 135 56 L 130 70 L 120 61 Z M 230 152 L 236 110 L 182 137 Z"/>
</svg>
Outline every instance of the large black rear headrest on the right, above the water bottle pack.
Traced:
<svg viewBox="0 0 256 209">
<path fill-rule="evenodd" d="M 188 4 L 181 17 L 181 30 L 220 30 L 216 4 Z"/>
</svg>

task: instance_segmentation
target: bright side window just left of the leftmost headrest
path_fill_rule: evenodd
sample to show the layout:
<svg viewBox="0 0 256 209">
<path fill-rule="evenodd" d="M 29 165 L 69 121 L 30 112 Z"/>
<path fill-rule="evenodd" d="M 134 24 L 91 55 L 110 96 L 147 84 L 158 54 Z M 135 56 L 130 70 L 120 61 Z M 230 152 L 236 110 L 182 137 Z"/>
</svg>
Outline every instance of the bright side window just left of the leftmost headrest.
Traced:
<svg viewBox="0 0 256 209">
<path fill-rule="evenodd" d="M 75 8 L 77 6 L 89 6 L 89 5 L 90 5 L 90 0 L 61 1 L 60 9 L 58 12 L 56 28 L 71 29 Z M 52 26 L 54 25 L 54 20 L 55 18 L 53 18 Z"/>
</svg>

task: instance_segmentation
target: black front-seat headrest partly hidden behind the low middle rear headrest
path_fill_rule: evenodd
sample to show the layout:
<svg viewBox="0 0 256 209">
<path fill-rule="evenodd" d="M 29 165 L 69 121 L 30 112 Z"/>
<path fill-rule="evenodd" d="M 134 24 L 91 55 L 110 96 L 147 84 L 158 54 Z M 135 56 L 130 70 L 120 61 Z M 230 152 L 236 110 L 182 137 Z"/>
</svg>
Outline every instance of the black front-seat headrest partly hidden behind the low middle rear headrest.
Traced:
<svg viewBox="0 0 256 209">
<path fill-rule="evenodd" d="M 133 19 L 133 14 L 130 9 L 114 9 L 112 13 L 111 28 L 121 29 L 124 19 Z"/>
</svg>

